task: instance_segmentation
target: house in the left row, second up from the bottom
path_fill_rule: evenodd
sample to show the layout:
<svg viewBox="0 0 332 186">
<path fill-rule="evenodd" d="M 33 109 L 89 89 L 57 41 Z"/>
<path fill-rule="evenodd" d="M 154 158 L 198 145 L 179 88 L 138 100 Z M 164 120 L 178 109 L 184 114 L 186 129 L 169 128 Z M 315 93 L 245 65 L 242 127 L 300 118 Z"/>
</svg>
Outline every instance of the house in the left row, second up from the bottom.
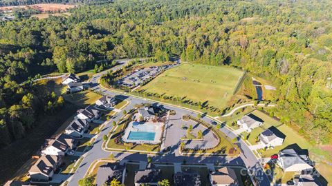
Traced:
<svg viewBox="0 0 332 186">
<path fill-rule="evenodd" d="M 42 154 L 63 156 L 68 150 L 75 148 L 75 141 L 66 134 L 60 134 L 54 139 L 50 139 L 46 147 L 42 149 Z"/>
</svg>

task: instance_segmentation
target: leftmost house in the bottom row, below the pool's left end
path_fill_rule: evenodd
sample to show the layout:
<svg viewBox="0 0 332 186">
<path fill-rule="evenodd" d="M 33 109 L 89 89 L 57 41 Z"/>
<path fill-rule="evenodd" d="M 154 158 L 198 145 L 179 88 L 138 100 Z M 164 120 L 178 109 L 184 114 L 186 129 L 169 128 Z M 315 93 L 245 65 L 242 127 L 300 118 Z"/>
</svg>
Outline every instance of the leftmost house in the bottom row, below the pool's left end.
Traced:
<svg viewBox="0 0 332 186">
<path fill-rule="evenodd" d="M 102 165 L 98 168 L 95 184 L 97 186 L 105 183 L 109 185 L 113 179 L 120 181 L 120 184 L 124 183 L 124 174 L 125 169 L 122 165 L 107 163 L 107 165 Z"/>
</svg>

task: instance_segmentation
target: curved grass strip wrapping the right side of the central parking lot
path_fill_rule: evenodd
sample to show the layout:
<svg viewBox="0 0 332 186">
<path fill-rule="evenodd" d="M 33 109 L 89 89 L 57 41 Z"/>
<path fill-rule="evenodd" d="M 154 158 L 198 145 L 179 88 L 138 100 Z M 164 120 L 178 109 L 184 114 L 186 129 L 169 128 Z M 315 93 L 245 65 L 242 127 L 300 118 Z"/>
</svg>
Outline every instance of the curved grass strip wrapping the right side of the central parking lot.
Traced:
<svg viewBox="0 0 332 186">
<path fill-rule="evenodd" d="M 181 145 L 181 154 L 183 155 L 207 155 L 207 156 L 239 156 L 240 149 L 237 145 L 232 143 L 231 139 L 228 136 L 225 136 L 223 132 L 217 130 L 214 126 L 206 123 L 205 121 L 201 120 L 200 118 L 196 118 L 190 115 L 183 116 L 184 121 L 195 121 L 200 125 L 203 125 L 208 130 L 213 132 L 213 134 L 218 138 L 218 144 L 211 148 L 206 149 L 187 149 L 184 145 Z"/>
</svg>

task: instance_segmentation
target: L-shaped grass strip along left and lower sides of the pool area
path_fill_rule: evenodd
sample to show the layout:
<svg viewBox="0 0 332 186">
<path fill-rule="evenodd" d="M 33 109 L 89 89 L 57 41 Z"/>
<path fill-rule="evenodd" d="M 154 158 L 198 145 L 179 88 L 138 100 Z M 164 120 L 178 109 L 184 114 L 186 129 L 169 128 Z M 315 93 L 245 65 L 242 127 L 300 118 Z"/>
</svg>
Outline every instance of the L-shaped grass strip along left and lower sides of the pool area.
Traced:
<svg viewBox="0 0 332 186">
<path fill-rule="evenodd" d="M 108 140 L 102 144 L 102 149 L 106 151 L 118 151 L 118 152 L 139 152 L 141 154 L 156 154 L 160 150 L 160 144 L 137 144 L 137 143 L 124 143 L 121 141 L 121 137 L 124 134 L 128 123 L 133 116 L 133 110 L 127 115 L 120 118 L 120 121 L 116 123 L 116 126 L 107 135 Z"/>
</svg>

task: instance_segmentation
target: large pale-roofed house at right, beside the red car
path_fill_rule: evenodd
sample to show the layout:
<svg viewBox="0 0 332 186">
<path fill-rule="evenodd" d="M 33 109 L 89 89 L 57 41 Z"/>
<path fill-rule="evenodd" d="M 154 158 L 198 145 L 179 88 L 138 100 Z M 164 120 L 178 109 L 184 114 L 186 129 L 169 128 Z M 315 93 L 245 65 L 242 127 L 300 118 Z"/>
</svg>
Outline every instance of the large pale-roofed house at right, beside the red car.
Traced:
<svg viewBox="0 0 332 186">
<path fill-rule="evenodd" d="M 294 149 L 284 149 L 279 152 L 277 164 L 284 172 L 302 172 L 313 169 L 306 154 L 297 154 Z"/>
</svg>

